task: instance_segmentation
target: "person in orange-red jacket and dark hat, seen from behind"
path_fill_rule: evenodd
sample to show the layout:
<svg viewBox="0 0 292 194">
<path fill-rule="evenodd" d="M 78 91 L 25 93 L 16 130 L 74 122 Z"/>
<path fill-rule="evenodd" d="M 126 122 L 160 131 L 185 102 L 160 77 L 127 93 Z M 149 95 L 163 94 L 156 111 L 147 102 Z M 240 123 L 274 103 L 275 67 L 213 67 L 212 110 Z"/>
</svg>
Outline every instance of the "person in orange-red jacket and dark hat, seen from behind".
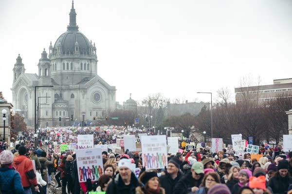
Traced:
<svg viewBox="0 0 292 194">
<path fill-rule="evenodd" d="M 13 166 L 16 168 L 21 177 L 21 183 L 25 194 L 32 194 L 31 187 L 35 187 L 38 192 L 37 177 L 34 172 L 33 163 L 28 159 L 25 154 L 28 152 L 26 147 L 19 146 L 19 156 L 14 158 Z"/>
</svg>

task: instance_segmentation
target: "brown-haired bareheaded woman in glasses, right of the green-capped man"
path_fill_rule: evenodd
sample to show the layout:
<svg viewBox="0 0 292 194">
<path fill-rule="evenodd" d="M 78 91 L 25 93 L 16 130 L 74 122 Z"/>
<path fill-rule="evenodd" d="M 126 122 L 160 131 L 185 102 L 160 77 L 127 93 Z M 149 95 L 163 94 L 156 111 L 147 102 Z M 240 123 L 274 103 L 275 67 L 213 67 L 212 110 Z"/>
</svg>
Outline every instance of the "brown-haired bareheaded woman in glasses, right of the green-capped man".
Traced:
<svg viewBox="0 0 292 194">
<path fill-rule="evenodd" d="M 201 183 L 201 187 L 195 194 L 207 194 L 208 190 L 216 183 L 220 183 L 220 177 L 216 172 L 207 173 Z"/>
</svg>

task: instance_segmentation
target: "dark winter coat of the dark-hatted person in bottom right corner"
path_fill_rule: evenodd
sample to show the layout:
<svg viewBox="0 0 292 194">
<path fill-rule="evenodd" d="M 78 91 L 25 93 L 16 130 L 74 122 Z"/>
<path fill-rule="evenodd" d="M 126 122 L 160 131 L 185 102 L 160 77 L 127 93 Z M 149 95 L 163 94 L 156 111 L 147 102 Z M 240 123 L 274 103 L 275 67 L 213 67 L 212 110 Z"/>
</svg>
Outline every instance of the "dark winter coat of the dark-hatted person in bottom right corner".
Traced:
<svg viewBox="0 0 292 194">
<path fill-rule="evenodd" d="M 292 177 L 281 178 L 277 173 L 270 178 L 268 183 L 274 194 L 286 193 L 290 184 L 292 184 Z"/>
</svg>

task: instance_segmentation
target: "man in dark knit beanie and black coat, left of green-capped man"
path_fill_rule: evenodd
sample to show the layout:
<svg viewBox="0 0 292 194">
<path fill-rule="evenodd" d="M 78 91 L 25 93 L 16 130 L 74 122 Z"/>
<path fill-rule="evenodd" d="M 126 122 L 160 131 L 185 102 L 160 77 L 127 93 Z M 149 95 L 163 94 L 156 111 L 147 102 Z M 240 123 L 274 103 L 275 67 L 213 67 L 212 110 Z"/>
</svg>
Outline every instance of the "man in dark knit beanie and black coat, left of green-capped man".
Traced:
<svg viewBox="0 0 292 194">
<path fill-rule="evenodd" d="M 179 163 L 177 158 L 170 159 L 165 175 L 159 178 L 161 187 L 165 189 L 165 194 L 173 194 L 176 183 L 183 177 Z"/>
</svg>

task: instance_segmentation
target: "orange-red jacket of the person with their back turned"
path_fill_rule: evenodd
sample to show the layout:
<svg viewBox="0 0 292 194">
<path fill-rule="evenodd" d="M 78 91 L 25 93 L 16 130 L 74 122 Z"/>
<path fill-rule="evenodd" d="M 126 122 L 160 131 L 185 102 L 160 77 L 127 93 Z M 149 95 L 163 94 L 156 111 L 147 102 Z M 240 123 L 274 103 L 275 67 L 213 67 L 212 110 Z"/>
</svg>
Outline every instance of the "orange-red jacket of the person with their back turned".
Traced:
<svg viewBox="0 0 292 194">
<path fill-rule="evenodd" d="M 37 177 L 35 174 L 35 178 L 28 178 L 27 172 L 34 172 L 33 163 L 26 156 L 17 156 L 14 158 L 14 162 L 12 164 L 21 177 L 21 183 L 23 187 L 31 187 L 37 185 Z M 32 172 L 31 172 L 32 173 Z"/>
</svg>

